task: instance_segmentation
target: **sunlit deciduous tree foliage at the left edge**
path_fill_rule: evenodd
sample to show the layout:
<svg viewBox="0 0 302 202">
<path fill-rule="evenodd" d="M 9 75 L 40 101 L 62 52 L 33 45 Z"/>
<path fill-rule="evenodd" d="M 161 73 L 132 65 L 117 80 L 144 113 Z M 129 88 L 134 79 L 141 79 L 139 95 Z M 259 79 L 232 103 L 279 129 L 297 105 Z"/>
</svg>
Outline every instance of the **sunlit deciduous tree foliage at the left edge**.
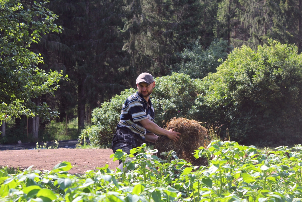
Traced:
<svg viewBox="0 0 302 202">
<path fill-rule="evenodd" d="M 31 101 L 53 94 L 62 72 L 43 71 L 41 55 L 29 50 L 41 35 L 59 32 L 57 15 L 45 8 L 46 1 L 24 7 L 19 0 L 0 1 L 0 121 L 24 114 L 50 118 L 55 113 L 46 103 Z"/>
</svg>

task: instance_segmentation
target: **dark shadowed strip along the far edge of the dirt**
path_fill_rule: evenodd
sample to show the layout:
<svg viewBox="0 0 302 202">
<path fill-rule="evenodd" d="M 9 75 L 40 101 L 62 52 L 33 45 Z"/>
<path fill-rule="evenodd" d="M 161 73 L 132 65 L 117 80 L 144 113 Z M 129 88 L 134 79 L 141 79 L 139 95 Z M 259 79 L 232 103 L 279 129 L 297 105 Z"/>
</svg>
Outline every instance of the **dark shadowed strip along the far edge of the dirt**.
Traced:
<svg viewBox="0 0 302 202">
<path fill-rule="evenodd" d="M 86 140 L 89 143 L 89 140 Z M 69 148 L 74 149 L 76 145 L 79 144 L 78 140 L 61 140 L 58 142 L 58 148 Z M 43 142 L 39 142 L 39 145 L 43 146 Z M 47 142 L 46 147 L 53 146 L 54 142 Z M 1 150 L 20 150 L 20 149 L 35 149 L 37 147 L 37 142 L 26 142 L 21 144 L 0 144 L 0 151 Z"/>
</svg>

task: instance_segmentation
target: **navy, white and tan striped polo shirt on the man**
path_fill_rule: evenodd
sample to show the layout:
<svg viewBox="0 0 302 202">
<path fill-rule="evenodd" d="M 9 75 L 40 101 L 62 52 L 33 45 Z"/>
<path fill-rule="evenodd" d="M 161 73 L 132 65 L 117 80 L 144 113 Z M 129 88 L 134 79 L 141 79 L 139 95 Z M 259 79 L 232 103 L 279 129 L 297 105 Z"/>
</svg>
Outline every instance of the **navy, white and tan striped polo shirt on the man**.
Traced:
<svg viewBox="0 0 302 202">
<path fill-rule="evenodd" d="M 147 101 L 141 97 L 138 92 L 130 95 L 122 107 L 120 114 L 120 122 L 117 124 L 117 129 L 124 129 L 133 134 L 138 135 L 143 140 L 146 133 L 151 133 L 146 130 L 139 121 L 149 118 L 154 121 L 154 108 L 149 98 L 149 108 L 147 109 Z"/>
</svg>

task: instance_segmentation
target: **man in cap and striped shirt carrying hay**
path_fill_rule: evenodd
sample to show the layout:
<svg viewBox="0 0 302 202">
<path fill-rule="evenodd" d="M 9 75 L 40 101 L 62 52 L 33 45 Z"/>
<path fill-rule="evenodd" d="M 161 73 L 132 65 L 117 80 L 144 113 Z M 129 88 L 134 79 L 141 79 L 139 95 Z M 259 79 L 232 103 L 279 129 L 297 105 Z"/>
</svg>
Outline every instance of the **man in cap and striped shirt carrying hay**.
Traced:
<svg viewBox="0 0 302 202">
<path fill-rule="evenodd" d="M 165 135 L 174 142 L 179 140 L 180 133 L 172 129 L 167 131 L 153 122 L 154 108 L 149 98 L 155 87 L 153 76 L 142 73 L 137 77 L 136 84 L 138 92 L 129 96 L 122 107 L 120 122 L 112 139 L 114 153 L 121 149 L 130 154 L 130 150 L 139 147 L 144 140 L 154 143 L 158 138 L 154 133 Z M 122 169 L 123 164 L 119 163 L 118 168 Z"/>
</svg>

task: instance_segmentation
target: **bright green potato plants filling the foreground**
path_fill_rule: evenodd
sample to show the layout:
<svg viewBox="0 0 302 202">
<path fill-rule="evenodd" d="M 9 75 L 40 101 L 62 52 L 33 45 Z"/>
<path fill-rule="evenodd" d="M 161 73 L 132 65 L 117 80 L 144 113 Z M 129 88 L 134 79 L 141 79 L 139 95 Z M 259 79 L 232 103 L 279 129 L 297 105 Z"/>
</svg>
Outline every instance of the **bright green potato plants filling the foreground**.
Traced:
<svg viewBox="0 0 302 202">
<path fill-rule="evenodd" d="M 194 156 L 206 157 L 208 166 L 193 166 L 178 159 L 162 160 L 145 151 L 146 144 L 127 155 L 112 154 L 114 161 L 126 157 L 116 173 L 105 167 L 89 170 L 82 176 L 68 174 L 69 162 L 57 164 L 51 171 L 33 170 L 18 174 L 0 170 L 1 201 L 259 201 L 297 202 L 302 197 L 302 147 L 277 147 L 275 151 L 258 150 L 237 142 L 212 141 L 200 147 Z M 173 152 L 172 152 L 173 153 Z"/>
</svg>

